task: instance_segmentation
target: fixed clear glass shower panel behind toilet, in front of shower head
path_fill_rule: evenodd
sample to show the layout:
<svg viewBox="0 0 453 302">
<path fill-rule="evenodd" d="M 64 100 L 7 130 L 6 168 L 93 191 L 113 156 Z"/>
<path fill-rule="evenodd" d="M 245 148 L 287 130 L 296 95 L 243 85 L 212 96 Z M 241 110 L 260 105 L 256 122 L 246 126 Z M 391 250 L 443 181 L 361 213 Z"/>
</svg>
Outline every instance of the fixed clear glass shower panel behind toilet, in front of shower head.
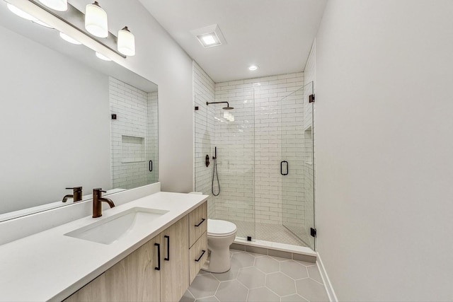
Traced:
<svg viewBox="0 0 453 302">
<path fill-rule="evenodd" d="M 227 92 L 215 102 L 228 102 L 231 110 L 224 103 L 207 105 L 214 95 L 195 95 L 195 190 L 210 195 L 208 218 L 231 221 L 236 238 L 254 240 L 253 90 L 234 98 Z"/>
</svg>

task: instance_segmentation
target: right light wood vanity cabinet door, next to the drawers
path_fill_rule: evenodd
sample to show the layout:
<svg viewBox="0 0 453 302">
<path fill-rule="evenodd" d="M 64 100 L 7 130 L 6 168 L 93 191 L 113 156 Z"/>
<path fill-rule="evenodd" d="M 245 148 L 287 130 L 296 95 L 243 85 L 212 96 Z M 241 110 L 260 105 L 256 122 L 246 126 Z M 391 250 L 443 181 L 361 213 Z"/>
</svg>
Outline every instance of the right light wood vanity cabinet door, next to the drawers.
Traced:
<svg viewBox="0 0 453 302">
<path fill-rule="evenodd" d="M 161 233 L 161 301 L 179 301 L 189 287 L 188 216 Z"/>
</svg>

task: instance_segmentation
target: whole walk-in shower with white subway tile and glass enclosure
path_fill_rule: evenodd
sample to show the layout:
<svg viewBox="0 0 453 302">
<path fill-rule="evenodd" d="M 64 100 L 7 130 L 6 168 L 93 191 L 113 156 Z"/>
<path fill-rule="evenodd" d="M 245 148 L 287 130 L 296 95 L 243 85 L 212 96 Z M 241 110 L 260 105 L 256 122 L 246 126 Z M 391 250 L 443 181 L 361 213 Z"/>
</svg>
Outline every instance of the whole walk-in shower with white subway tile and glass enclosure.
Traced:
<svg viewBox="0 0 453 302">
<path fill-rule="evenodd" d="M 211 195 L 210 218 L 236 223 L 236 238 L 314 249 L 313 83 L 235 82 L 195 95 L 195 190 Z"/>
</svg>

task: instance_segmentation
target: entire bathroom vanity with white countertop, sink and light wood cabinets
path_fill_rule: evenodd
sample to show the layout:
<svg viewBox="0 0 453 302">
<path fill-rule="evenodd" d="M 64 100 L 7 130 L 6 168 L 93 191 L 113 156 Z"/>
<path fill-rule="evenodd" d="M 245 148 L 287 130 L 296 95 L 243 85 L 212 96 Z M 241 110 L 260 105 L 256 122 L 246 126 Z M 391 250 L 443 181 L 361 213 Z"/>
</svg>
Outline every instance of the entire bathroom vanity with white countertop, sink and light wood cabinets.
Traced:
<svg viewBox="0 0 453 302">
<path fill-rule="evenodd" d="M 179 301 L 207 258 L 206 199 L 156 192 L 0 245 L 0 301 Z"/>
</svg>

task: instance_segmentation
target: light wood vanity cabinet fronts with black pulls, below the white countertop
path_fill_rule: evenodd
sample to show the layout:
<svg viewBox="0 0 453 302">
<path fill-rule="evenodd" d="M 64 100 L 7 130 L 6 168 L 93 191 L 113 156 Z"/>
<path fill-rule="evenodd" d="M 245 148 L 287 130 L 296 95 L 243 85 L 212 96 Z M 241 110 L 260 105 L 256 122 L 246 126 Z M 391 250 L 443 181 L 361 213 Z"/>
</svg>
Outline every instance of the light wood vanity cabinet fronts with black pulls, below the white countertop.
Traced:
<svg viewBox="0 0 453 302">
<path fill-rule="evenodd" d="M 64 301 L 179 301 L 207 259 L 206 204 L 173 223 Z M 202 219 L 205 221 L 195 227 Z M 203 255 L 202 250 L 205 250 Z"/>
</svg>

